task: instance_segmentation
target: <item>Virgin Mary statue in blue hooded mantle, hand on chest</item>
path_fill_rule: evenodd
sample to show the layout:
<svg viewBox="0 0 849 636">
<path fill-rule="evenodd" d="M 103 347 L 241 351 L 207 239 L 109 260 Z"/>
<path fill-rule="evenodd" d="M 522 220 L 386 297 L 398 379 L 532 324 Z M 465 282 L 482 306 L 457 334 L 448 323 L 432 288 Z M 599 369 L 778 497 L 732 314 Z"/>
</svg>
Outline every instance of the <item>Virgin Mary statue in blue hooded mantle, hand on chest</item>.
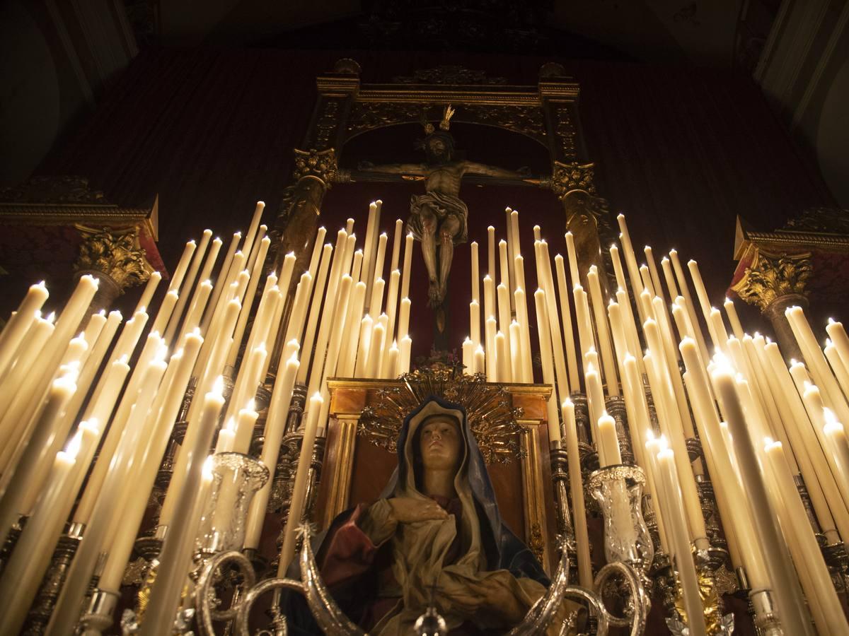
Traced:
<svg viewBox="0 0 849 636">
<path fill-rule="evenodd" d="M 548 578 L 501 521 L 465 410 L 426 399 L 403 422 L 397 449 L 380 499 L 341 513 L 319 539 L 330 594 L 372 636 L 413 633 L 428 607 L 452 636 L 506 633 Z M 288 608 L 292 633 L 320 633 L 302 609 Z"/>
</svg>

